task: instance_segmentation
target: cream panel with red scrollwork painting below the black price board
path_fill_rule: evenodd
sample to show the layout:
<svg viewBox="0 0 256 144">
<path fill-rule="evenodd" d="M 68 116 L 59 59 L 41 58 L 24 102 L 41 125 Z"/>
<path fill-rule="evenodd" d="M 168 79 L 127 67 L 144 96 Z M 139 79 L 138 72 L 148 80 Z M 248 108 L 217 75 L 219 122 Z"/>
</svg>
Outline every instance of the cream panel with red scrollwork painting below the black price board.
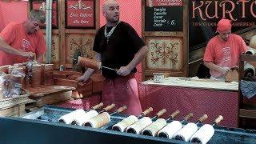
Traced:
<svg viewBox="0 0 256 144">
<path fill-rule="evenodd" d="M 149 53 L 146 67 L 158 70 L 180 70 L 182 68 L 182 38 L 147 37 Z"/>
</svg>

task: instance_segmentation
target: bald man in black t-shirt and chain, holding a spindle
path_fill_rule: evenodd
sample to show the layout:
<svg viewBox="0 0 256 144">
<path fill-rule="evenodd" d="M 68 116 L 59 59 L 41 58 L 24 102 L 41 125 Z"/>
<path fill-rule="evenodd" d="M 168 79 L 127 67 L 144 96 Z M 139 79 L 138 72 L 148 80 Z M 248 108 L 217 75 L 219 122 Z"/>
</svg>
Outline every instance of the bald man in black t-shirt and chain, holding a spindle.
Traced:
<svg viewBox="0 0 256 144">
<path fill-rule="evenodd" d="M 116 107 L 126 105 L 126 114 L 141 114 L 135 73 L 136 66 L 148 52 L 147 47 L 132 26 L 119 20 L 118 2 L 106 1 L 102 10 L 106 25 L 98 30 L 94 39 L 95 59 L 102 62 L 102 66 L 116 70 L 102 69 L 106 77 L 102 102 L 104 105 L 115 103 Z M 78 81 L 86 82 L 93 73 L 94 70 L 87 69 Z"/>
</svg>

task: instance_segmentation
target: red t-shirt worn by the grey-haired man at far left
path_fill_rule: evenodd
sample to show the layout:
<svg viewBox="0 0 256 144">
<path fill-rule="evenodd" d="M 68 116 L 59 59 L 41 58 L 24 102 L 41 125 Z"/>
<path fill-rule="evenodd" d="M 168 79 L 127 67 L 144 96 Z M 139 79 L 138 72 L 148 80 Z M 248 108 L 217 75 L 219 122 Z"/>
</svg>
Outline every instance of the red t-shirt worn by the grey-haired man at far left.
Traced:
<svg viewBox="0 0 256 144">
<path fill-rule="evenodd" d="M 2 32 L 0 37 L 10 46 L 21 51 L 31 51 L 35 54 L 46 53 L 46 41 L 40 30 L 34 34 L 27 34 L 23 22 L 10 22 Z M 13 65 L 14 63 L 27 62 L 28 58 L 15 54 L 6 54 L 0 51 L 0 66 Z"/>
</svg>

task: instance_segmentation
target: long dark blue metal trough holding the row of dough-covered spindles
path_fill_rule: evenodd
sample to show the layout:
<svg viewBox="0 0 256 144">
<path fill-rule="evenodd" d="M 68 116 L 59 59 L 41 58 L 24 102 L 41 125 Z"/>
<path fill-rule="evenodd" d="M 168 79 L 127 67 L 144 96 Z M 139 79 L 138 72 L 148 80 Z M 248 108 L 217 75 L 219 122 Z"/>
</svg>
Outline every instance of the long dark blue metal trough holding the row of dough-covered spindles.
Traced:
<svg viewBox="0 0 256 144">
<path fill-rule="evenodd" d="M 256 132 L 254 131 L 218 126 L 218 122 L 222 121 L 222 116 L 218 116 L 211 124 L 205 124 L 203 121 L 208 117 L 206 114 L 184 114 L 182 111 L 168 112 L 164 109 L 154 111 L 150 107 L 140 115 L 126 115 L 123 114 L 122 110 L 126 110 L 126 106 L 118 108 L 114 107 L 114 104 L 110 106 L 99 104 L 99 106 L 91 107 L 90 110 L 44 106 L 42 109 L 22 116 L 22 118 L 29 120 L 15 119 L 11 120 L 10 123 L 17 125 L 12 128 L 12 134 L 17 134 L 16 127 L 18 129 L 24 128 L 24 134 L 26 131 L 34 130 L 37 131 L 36 134 L 42 134 L 42 131 L 50 130 L 54 134 L 53 137 L 49 136 L 51 140 L 54 141 L 56 134 L 74 134 L 72 142 L 75 143 L 88 141 L 92 143 L 132 142 L 133 144 L 183 143 L 183 140 L 195 143 L 252 143 L 256 139 Z M 154 116 L 147 117 L 149 113 L 154 113 Z M 164 113 L 170 114 L 169 118 L 162 118 Z M 176 117 L 178 114 L 182 116 L 182 119 Z M 191 117 L 198 120 L 191 121 Z M 61 120 L 62 118 L 64 119 Z M 2 121 L 2 118 L 0 121 L 6 125 L 2 129 L 9 127 L 8 121 Z M 65 143 L 64 139 L 66 138 L 61 138 L 61 140 L 58 138 L 54 142 Z M 82 142 L 79 141 L 81 139 Z M 36 140 L 40 142 L 42 140 L 41 135 L 38 135 Z"/>
</svg>

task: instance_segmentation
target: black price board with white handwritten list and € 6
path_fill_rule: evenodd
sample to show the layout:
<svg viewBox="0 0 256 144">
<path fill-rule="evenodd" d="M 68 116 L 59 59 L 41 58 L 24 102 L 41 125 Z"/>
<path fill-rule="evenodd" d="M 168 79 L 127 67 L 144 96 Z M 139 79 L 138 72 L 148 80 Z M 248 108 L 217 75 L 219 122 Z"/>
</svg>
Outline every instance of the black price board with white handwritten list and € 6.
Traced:
<svg viewBox="0 0 256 144">
<path fill-rule="evenodd" d="M 182 0 L 146 0 L 145 31 L 182 30 Z"/>
</svg>

